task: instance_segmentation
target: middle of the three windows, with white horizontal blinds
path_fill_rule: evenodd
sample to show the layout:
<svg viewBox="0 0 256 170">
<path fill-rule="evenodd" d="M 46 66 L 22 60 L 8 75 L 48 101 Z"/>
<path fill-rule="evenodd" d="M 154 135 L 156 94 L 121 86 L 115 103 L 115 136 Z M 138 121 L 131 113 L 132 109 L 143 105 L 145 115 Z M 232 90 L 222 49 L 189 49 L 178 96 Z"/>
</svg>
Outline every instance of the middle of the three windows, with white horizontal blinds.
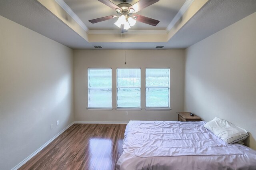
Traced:
<svg viewBox="0 0 256 170">
<path fill-rule="evenodd" d="M 140 69 L 116 69 L 116 107 L 140 108 Z"/>
</svg>

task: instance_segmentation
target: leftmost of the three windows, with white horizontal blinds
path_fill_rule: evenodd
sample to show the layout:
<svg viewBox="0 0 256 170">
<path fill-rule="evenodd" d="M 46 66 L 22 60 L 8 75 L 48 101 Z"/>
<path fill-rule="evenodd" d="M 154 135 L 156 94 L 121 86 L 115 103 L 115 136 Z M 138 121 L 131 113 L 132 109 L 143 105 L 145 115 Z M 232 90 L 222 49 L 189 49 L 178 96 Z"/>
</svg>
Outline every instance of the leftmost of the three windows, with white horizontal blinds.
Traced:
<svg viewBox="0 0 256 170">
<path fill-rule="evenodd" d="M 112 108 L 111 68 L 88 68 L 88 108 Z"/>
</svg>

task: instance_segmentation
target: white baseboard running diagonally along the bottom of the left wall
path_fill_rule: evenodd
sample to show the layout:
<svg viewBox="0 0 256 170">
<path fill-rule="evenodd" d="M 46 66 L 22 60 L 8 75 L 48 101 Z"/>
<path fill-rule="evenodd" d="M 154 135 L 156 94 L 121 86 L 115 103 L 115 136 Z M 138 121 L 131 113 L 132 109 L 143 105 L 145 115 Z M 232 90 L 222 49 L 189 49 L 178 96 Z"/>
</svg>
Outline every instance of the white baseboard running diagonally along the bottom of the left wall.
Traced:
<svg viewBox="0 0 256 170">
<path fill-rule="evenodd" d="M 56 134 L 53 138 L 51 138 L 48 142 L 46 142 L 43 146 L 38 148 L 34 153 L 32 153 L 30 156 L 28 156 L 26 159 L 22 160 L 18 165 L 16 165 L 12 170 L 18 170 L 22 165 L 24 165 L 28 160 L 30 160 L 33 156 L 35 156 L 38 152 L 40 152 L 43 148 L 45 148 L 50 142 L 52 142 L 54 139 L 56 139 L 60 134 L 62 134 L 65 130 L 67 130 L 69 127 L 71 127 L 74 124 L 74 122 L 70 123 L 66 128 L 61 130 L 58 134 Z"/>
</svg>

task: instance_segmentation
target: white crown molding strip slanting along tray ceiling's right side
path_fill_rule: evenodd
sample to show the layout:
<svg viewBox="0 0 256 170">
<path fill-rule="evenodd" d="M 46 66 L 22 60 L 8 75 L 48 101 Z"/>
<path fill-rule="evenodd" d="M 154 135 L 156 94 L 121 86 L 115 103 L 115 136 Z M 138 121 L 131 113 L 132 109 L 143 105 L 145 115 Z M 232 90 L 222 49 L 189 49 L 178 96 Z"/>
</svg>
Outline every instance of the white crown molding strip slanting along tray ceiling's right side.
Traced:
<svg viewBox="0 0 256 170">
<path fill-rule="evenodd" d="M 178 20 L 182 18 L 182 16 L 184 15 L 184 13 L 188 9 L 188 7 L 192 4 L 193 1 L 194 0 L 186 0 L 186 2 L 182 5 L 182 7 L 180 8 L 176 16 L 174 16 L 170 24 L 167 26 L 166 33 L 168 33 L 174 27 L 174 25 L 178 22 Z"/>
</svg>

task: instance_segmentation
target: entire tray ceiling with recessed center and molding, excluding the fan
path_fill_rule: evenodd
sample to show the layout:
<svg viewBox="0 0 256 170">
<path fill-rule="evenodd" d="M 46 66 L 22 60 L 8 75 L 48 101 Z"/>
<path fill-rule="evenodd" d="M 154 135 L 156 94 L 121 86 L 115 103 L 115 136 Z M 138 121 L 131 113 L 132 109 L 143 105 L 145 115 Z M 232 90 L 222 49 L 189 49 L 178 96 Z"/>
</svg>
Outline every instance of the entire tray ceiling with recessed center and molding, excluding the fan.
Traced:
<svg viewBox="0 0 256 170">
<path fill-rule="evenodd" d="M 158 26 L 137 22 L 121 34 L 115 19 L 88 22 L 116 14 L 98 0 L 0 0 L 1 16 L 73 49 L 184 49 L 254 12 L 256 0 L 160 0 L 138 12 Z"/>
</svg>

